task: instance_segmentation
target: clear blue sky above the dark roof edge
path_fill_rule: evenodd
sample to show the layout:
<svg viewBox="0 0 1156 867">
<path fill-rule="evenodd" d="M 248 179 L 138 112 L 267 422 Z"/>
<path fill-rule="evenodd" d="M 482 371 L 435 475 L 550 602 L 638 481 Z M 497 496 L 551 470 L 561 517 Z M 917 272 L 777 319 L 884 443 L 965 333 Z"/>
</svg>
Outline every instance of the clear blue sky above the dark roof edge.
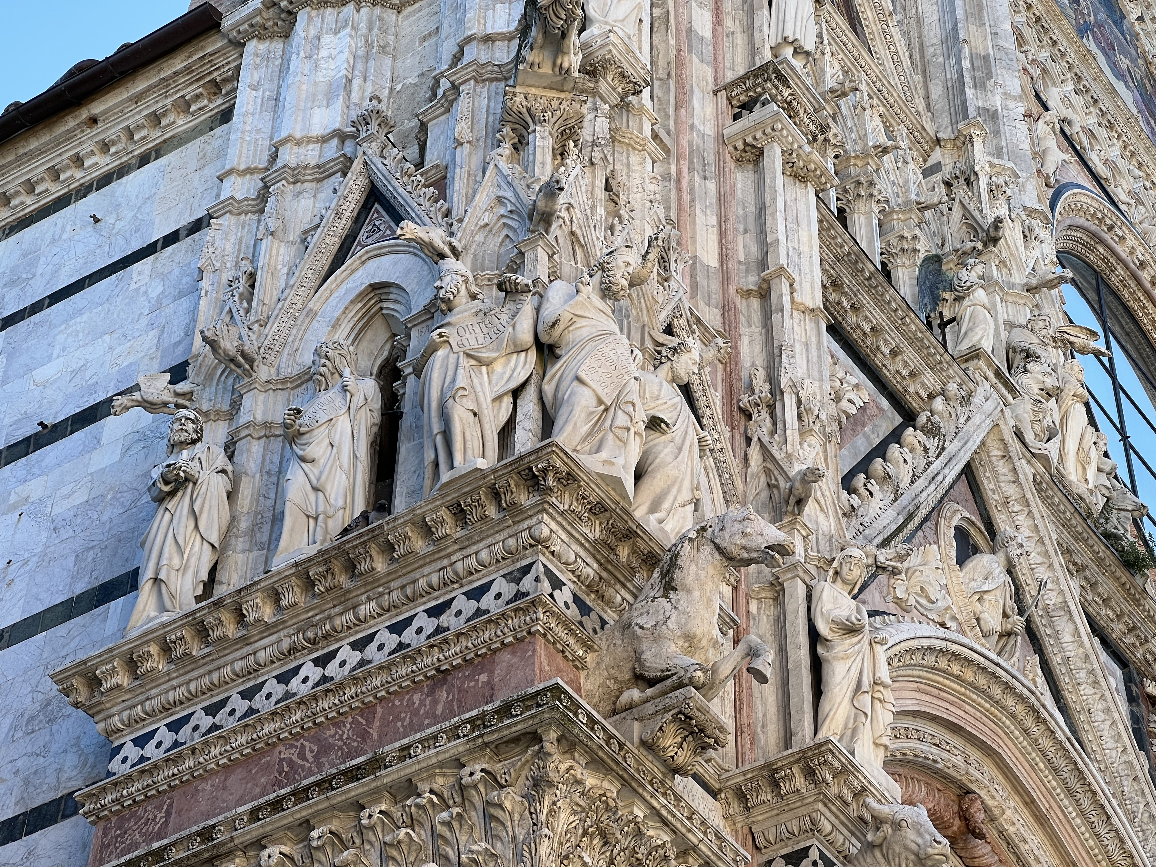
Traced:
<svg viewBox="0 0 1156 867">
<path fill-rule="evenodd" d="M 76 61 L 102 60 L 187 9 L 188 0 L 0 0 L 0 109 L 27 102 Z"/>
</svg>

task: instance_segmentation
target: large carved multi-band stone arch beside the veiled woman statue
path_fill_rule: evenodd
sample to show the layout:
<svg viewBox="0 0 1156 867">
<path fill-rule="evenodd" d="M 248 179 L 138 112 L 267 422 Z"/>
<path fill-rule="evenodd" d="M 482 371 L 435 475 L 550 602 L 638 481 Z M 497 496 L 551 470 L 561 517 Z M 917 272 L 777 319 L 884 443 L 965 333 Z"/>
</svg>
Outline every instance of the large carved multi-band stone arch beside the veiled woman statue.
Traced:
<svg viewBox="0 0 1156 867">
<path fill-rule="evenodd" d="M 1042 692 L 959 635 L 910 622 L 885 629 L 896 709 L 885 770 L 925 775 L 957 795 L 978 793 L 988 828 L 1018 864 L 1147 864 Z"/>
</svg>

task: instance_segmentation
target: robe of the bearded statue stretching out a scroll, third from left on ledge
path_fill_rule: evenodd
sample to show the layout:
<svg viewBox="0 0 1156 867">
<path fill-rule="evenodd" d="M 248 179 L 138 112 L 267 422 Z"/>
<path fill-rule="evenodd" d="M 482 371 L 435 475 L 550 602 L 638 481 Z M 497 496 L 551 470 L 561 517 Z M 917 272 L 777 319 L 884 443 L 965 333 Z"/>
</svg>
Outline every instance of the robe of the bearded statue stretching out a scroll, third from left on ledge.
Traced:
<svg viewBox="0 0 1156 867">
<path fill-rule="evenodd" d="M 512 320 L 496 319 L 507 307 L 517 307 Z M 450 451 L 462 465 L 479 459 L 484 461 L 475 464 L 480 467 L 497 462 L 498 431 L 513 409 L 513 391 L 534 369 L 534 306 L 525 295 L 517 302 L 507 296 L 506 305 L 496 310 L 484 301 L 469 302 L 451 310 L 437 328 L 454 335 L 452 342 L 428 358 L 423 354 L 421 369 L 414 371 L 421 380 L 417 400 L 424 427 L 425 495 L 436 487 L 435 475 L 445 481 L 457 468 L 439 466 L 439 436 L 450 438 Z M 459 425 L 461 443 L 452 442 L 453 414 L 465 420 Z"/>
</svg>

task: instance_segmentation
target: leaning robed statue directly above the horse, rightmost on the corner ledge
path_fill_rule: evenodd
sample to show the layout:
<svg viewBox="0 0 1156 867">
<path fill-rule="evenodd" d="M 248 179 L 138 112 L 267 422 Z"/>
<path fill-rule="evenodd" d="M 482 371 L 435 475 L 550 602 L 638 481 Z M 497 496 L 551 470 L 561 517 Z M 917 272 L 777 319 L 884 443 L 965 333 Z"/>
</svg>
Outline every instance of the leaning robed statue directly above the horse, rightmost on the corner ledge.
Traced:
<svg viewBox="0 0 1156 867">
<path fill-rule="evenodd" d="M 702 454 L 710 447 L 710 437 L 676 387 L 689 383 L 698 370 L 697 344 L 676 341 L 662 350 L 658 361 L 653 373 L 637 372 L 646 430 L 635 465 L 631 509 L 638 520 L 669 543 L 695 523 L 695 503 L 702 496 Z"/>
</svg>

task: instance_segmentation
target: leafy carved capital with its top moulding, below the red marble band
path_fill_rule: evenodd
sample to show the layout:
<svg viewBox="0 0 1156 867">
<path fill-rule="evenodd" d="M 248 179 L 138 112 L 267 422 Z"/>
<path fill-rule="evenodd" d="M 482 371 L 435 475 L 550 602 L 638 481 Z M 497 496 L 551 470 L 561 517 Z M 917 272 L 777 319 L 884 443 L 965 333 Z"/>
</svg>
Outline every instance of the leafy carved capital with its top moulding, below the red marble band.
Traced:
<svg viewBox="0 0 1156 867">
<path fill-rule="evenodd" d="M 421 781 L 418 793 L 399 798 L 399 784 L 405 788 L 409 780 Z M 82 798 L 91 802 L 106 786 Z M 557 682 L 392 743 L 112 864 L 197 867 L 242 852 L 252 853 L 245 862 L 262 867 L 413 859 L 449 867 L 548 867 L 564 862 L 565 854 L 642 867 L 692 854 L 709 867 L 742 867 L 749 858 L 680 793 L 673 777 L 643 759 Z"/>
</svg>

